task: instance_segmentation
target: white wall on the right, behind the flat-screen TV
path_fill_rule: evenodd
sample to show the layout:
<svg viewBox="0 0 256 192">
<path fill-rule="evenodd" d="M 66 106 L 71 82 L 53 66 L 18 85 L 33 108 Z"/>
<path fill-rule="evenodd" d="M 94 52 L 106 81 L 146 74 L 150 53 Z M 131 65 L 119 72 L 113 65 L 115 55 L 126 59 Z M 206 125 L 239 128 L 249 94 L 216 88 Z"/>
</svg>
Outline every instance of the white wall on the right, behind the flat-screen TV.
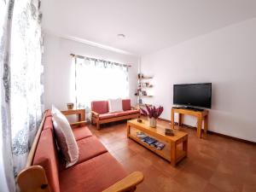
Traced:
<svg viewBox="0 0 256 192">
<path fill-rule="evenodd" d="M 212 82 L 209 130 L 256 142 L 255 18 L 145 55 L 141 68 L 154 75 L 148 102 L 164 106 L 163 119 L 171 119 L 173 84 Z"/>
</svg>

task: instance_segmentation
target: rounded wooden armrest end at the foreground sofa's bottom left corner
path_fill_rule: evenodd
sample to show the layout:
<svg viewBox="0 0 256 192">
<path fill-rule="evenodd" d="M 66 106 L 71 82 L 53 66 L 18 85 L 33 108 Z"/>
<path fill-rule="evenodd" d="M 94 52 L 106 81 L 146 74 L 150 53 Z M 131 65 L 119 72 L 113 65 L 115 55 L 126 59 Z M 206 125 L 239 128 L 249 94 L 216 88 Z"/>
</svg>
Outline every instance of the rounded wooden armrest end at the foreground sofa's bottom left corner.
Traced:
<svg viewBox="0 0 256 192">
<path fill-rule="evenodd" d="M 19 173 L 17 183 L 20 192 L 50 192 L 43 166 L 28 166 Z"/>
</svg>

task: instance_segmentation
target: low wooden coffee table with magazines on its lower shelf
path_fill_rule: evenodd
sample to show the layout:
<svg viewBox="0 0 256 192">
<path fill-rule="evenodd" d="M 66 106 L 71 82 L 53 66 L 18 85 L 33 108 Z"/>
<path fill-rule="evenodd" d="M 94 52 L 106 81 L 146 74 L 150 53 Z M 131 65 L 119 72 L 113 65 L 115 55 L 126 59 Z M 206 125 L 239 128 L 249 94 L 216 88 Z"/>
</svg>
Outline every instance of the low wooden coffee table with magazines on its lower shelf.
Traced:
<svg viewBox="0 0 256 192">
<path fill-rule="evenodd" d="M 166 128 L 167 127 L 160 125 L 157 125 L 156 128 L 152 128 L 148 125 L 147 120 L 143 120 L 142 123 L 138 123 L 137 119 L 132 119 L 127 121 L 127 137 L 168 160 L 171 162 L 172 166 L 176 166 L 177 162 L 183 160 L 183 158 L 188 154 L 188 133 L 175 130 L 174 136 L 166 136 Z M 147 143 L 143 143 L 140 138 L 137 137 L 137 132 L 140 131 L 149 137 L 154 137 L 161 143 L 165 143 L 165 148 L 159 150 L 151 147 Z"/>
</svg>

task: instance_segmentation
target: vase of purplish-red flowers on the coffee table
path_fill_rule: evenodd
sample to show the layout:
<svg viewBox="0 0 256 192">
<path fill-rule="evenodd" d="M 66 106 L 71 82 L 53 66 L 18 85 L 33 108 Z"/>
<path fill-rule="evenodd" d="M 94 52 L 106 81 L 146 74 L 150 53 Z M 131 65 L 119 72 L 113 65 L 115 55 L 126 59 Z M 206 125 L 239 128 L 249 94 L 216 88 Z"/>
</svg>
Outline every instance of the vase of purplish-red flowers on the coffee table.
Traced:
<svg viewBox="0 0 256 192">
<path fill-rule="evenodd" d="M 160 114 L 163 113 L 164 108 L 162 106 L 160 106 L 159 108 L 155 108 L 154 106 L 149 107 L 148 105 L 146 105 L 146 109 L 141 108 L 141 112 L 143 113 L 143 115 L 148 116 L 149 119 L 149 126 L 151 127 L 156 127 L 156 119 L 158 119 L 160 117 Z"/>
</svg>

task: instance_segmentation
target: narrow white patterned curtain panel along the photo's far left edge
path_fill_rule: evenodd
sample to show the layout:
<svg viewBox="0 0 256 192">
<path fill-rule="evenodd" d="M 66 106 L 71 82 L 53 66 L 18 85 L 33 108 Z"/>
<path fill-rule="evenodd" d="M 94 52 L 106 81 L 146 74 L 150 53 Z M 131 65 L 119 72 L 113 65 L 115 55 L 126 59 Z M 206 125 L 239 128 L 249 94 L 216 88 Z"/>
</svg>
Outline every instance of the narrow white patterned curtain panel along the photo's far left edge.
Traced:
<svg viewBox="0 0 256 192">
<path fill-rule="evenodd" d="M 0 191 L 15 191 L 15 177 L 12 158 L 12 136 L 9 103 L 9 49 L 14 1 L 0 1 Z"/>
</svg>

